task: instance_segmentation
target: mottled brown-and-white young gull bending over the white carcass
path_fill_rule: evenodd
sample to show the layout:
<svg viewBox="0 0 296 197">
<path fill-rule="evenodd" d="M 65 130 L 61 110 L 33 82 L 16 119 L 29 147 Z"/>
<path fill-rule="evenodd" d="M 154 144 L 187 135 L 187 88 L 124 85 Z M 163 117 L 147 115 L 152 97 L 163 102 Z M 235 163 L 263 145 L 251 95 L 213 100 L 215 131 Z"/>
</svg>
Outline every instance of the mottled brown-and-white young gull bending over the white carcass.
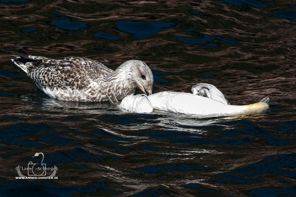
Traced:
<svg viewBox="0 0 296 197">
<path fill-rule="evenodd" d="M 129 60 L 112 70 L 95 60 L 66 57 L 56 60 L 18 53 L 11 61 L 25 71 L 51 98 L 96 102 L 123 99 L 139 88 L 152 94 L 153 74 L 142 61 Z"/>
</svg>

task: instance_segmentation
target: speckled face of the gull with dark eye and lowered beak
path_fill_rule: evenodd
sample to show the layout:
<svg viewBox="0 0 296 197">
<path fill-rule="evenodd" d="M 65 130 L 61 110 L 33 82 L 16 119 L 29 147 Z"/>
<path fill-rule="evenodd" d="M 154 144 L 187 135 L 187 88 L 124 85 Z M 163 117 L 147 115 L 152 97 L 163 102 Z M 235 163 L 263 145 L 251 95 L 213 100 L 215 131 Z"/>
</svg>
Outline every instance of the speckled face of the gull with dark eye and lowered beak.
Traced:
<svg viewBox="0 0 296 197">
<path fill-rule="evenodd" d="M 150 68 L 140 60 L 127 61 L 131 65 L 131 80 L 145 95 L 152 94 L 153 74 Z"/>
</svg>

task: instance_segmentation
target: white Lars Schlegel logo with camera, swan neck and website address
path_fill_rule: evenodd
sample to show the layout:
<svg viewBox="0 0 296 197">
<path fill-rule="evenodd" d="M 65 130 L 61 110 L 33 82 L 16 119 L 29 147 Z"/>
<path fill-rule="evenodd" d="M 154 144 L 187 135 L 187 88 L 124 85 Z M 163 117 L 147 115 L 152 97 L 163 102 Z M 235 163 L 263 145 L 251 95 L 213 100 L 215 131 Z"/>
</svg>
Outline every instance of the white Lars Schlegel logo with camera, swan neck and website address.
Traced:
<svg viewBox="0 0 296 197">
<path fill-rule="evenodd" d="M 29 162 L 27 167 L 17 166 L 15 167 L 17 174 L 16 179 L 59 179 L 59 177 L 55 176 L 57 170 L 59 168 L 57 166 L 54 167 L 46 167 L 46 164 L 43 163 L 44 154 L 43 153 L 36 153 L 34 157 L 38 157 L 39 155 L 42 156 L 41 163 L 33 163 Z M 34 158 L 33 157 L 33 158 Z M 28 176 L 23 175 L 22 171 L 26 171 Z M 46 173 L 50 173 L 49 176 L 46 176 Z"/>
</svg>

